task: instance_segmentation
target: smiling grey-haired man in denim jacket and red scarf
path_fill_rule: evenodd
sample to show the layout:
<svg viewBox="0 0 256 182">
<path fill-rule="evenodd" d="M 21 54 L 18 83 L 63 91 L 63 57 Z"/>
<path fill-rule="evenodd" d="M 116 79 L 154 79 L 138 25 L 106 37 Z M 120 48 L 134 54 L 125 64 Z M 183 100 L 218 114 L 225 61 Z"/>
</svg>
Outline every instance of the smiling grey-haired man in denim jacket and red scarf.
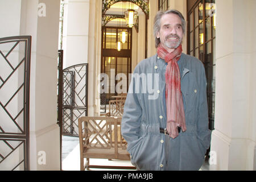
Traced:
<svg viewBox="0 0 256 182">
<path fill-rule="evenodd" d="M 157 53 L 134 69 L 139 78 L 131 79 L 122 135 L 139 170 L 198 170 L 210 144 L 205 70 L 200 60 L 182 53 L 185 24 L 177 10 L 159 12 Z M 158 76 L 158 85 L 150 74 Z M 142 92 L 145 84 L 159 88 L 158 97 Z"/>
</svg>

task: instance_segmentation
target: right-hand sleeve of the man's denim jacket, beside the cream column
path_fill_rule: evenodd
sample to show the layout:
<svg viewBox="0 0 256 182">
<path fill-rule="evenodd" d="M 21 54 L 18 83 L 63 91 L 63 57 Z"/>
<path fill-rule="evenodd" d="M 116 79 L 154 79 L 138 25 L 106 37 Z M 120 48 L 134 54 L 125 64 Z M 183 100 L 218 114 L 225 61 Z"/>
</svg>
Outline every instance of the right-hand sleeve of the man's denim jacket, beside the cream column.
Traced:
<svg viewBox="0 0 256 182">
<path fill-rule="evenodd" d="M 209 130 L 209 118 L 208 118 L 208 104 L 207 104 L 207 81 L 205 77 L 205 68 L 201 64 L 200 75 L 200 102 L 199 102 L 199 115 L 196 124 L 197 137 L 200 139 L 204 152 L 210 146 L 210 139 L 212 131 Z"/>
</svg>

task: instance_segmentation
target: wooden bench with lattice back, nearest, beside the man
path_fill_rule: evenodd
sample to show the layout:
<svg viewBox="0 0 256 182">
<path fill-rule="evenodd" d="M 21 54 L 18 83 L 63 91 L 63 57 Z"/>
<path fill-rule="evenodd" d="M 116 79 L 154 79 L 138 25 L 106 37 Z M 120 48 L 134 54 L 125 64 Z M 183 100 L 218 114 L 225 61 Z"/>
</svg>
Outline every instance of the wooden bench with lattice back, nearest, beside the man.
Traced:
<svg viewBox="0 0 256 182">
<path fill-rule="evenodd" d="M 121 168 L 136 169 L 130 166 L 92 166 L 90 158 L 130 160 L 126 151 L 127 143 L 121 135 L 122 118 L 114 117 L 80 117 L 79 143 L 80 143 L 80 169 L 89 168 Z M 119 138 L 118 138 L 119 135 Z M 84 164 L 84 158 L 86 162 Z"/>
</svg>

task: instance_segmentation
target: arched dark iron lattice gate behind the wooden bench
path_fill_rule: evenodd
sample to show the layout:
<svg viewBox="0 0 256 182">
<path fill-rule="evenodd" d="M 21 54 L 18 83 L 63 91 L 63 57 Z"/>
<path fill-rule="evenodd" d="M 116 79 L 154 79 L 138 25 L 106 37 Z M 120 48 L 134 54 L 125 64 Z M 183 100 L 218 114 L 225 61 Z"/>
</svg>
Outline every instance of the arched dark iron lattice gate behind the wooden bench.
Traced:
<svg viewBox="0 0 256 182">
<path fill-rule="evenodd" d="M 88 64 L 63 70 L 63 134 L 78 136 L 77 119 L 88 114 Z"/>
</svg>

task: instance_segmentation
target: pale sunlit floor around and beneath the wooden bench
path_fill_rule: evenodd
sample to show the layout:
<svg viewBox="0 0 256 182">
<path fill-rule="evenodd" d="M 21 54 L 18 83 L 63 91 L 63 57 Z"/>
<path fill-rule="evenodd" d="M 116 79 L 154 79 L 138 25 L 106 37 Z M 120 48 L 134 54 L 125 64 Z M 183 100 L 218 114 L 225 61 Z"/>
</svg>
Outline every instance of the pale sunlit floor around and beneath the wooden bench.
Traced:
<svg viewBox="0 0 256 182">
<path fill-rule="evenodd" d="M 64 171 L 80 170 L 80 149 L 79 138 L 63 136 L 62 141 L 62 169 Z M 90 159 L 91 165 L 104 166 L 133 166 L 129 160 L 108 160 L 108 159 Z M 90 169 L 105 170 L 105 169 Z M 110 169 L 106 169 L 110 170 Z M 203 164 L 201 171 L 209 171 L 209 163 Z"/>
</svg>

